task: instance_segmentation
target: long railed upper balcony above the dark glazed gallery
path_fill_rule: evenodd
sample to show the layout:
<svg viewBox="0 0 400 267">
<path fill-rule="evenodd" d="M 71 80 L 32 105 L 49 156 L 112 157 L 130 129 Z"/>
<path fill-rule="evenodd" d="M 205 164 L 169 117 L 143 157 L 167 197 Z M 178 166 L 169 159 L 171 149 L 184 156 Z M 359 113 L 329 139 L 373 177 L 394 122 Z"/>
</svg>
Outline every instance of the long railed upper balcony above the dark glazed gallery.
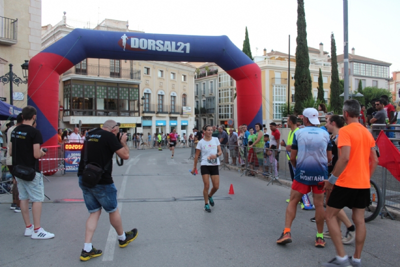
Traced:
<svg viewBox="0 0 400 267">
<path fill-rule="evenodd" d="M 99 66 L 95 64 L 82 64 L 82 67 L 73 66 L 64 72 L 64 76 L 68 74 L 90 75 L 99 77 L 137 79 L 140 80 L 140 70 L 130 68 L 110 68 L 109 66 Z M 119 70 L 119 71 L 118 71 Z"/>
</svg>

